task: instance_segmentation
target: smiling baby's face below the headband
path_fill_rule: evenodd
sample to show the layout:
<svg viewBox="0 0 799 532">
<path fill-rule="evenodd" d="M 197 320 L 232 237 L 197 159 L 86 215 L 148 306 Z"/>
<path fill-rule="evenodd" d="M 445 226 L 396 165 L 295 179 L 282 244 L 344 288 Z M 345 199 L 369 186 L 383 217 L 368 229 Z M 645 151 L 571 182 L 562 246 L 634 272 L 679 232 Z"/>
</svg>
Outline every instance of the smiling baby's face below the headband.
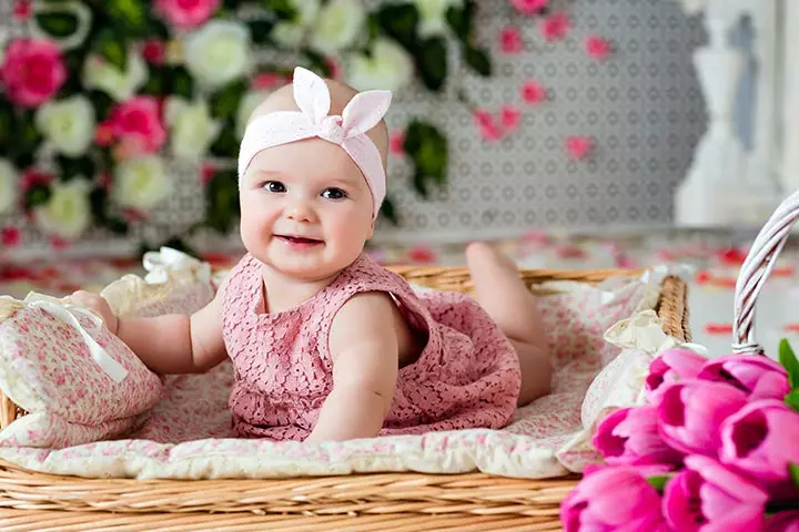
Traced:
<svg viewBox="0 0 799 532">
<path fill-rule="evenodd" d="M 372 236 L 372 194 L 355 162 L 322 139 L 270 147 L 241 183 L 244 246 L 301 280 L 333 277 Z"/>
</svg>

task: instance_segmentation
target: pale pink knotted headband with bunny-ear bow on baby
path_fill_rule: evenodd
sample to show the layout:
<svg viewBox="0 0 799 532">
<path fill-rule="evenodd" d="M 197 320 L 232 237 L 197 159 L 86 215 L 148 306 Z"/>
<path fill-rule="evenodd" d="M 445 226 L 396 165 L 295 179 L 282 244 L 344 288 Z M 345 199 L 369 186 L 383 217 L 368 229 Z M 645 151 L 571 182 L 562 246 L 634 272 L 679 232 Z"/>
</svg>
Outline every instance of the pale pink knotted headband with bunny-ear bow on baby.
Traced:
<svg viewBox="0 0 799 532">
<path fill-rule="evenodd" d="M 239 152 L 239 181 L 262 150 L 318 136 L 342 146 L 361 168 L 372 192 L 373 216 L 377 216 L 385 197 L 386 176 L 383 157 L 366 132 L 377 125 L 388 111 L 392 93 L 361 92 L 347 103 L 342 116 L 328 116 L 331 98 L 322 78 L 297 66 L 293 84 L 299 112 L 275 111 L 254 119 L 247 125 Z"/>
</svg>

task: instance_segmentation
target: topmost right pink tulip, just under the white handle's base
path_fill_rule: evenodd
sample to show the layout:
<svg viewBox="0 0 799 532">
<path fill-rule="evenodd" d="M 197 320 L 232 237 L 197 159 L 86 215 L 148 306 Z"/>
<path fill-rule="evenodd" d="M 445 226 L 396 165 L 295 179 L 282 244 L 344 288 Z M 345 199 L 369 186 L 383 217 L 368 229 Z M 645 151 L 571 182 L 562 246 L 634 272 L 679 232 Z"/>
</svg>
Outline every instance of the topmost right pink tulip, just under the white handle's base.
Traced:
<svg viewBox="0 0 799 532">
<path fill-rule="evenodd" d="M 782 400 L 790 391 L 785 368 L 760 355 L 734 355 L 710 360 L 697 378 L 732 385 L 746 391 L 749 400 Z"/>
</svg>

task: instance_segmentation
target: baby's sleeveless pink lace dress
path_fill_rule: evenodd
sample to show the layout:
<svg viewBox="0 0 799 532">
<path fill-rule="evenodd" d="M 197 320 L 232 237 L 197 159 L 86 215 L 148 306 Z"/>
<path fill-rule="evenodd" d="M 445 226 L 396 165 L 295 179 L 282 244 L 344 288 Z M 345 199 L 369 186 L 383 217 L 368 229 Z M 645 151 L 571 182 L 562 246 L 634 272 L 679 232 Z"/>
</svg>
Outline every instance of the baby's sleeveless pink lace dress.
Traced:
<svg viewBox="0 0 799 532">
<path fill-rule="evenodd" d="M 401 276 L 363 254 L 300 306 L 264 311 L 261 264 L 244 256 L 223 294 L 223 336 L 234 367 L 230 397 L 242 438 L 304 440 L 333 389 L 327 337 L 352 296 L 392 294 L 412 328 L 426 334 L 418 359 L 400 369 L 381 434 L 499 429 L 516 408 L 515 349 L 488 315 L 458 293 L 416 295 Z"/>
</svg>

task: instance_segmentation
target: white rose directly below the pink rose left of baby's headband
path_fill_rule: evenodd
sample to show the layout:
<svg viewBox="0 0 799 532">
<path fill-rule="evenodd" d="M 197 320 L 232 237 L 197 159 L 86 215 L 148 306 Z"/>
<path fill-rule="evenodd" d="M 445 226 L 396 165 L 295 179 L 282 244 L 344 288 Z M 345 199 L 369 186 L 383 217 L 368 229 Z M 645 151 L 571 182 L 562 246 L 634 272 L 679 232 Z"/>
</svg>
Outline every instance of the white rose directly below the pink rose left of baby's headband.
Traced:
<svg viewBox="0 0 799 532">
<path fill-rule="evenodd" d="M 163 161 L 155 155 L 132 157 L 117 165 L 111 198 L 118 205 L 150 211 L 172 191 Z"/>
</svg>

